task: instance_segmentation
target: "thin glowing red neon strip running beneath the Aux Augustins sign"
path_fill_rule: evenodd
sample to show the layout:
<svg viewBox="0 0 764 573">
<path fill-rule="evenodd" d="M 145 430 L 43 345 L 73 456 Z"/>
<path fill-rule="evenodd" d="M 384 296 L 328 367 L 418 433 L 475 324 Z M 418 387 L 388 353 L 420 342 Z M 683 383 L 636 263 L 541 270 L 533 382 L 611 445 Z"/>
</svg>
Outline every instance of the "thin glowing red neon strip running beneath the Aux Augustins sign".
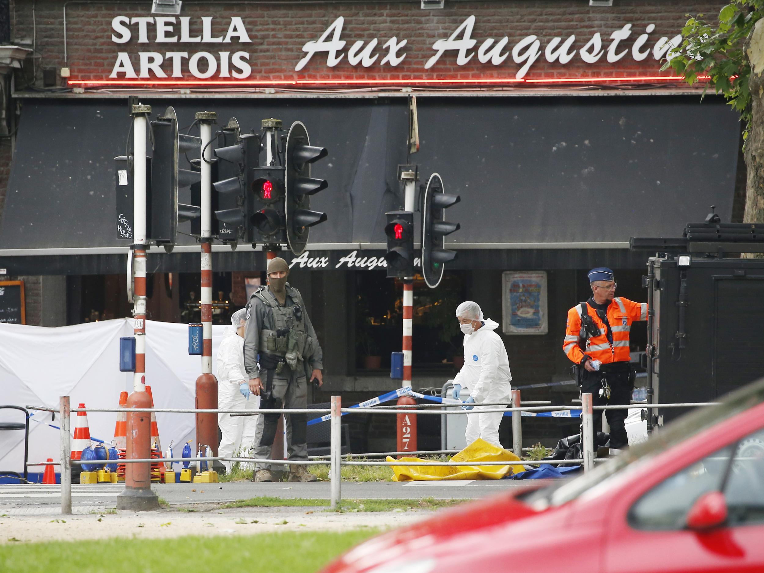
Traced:
<svg viewBox="0 0 764 573">
<path fill-rule="evenodd" d="M 698 76 L 711 79 L 711 76 Z M 684 76 L 623 76 L 598 78 L 540 78 L 540 79 L 242 79 L 212 80 L 141 80 L 141 79 L 70 79 L 71 86 L 390 86 L 410 84 L 508 84 L 508 83 L 623 83 L 623 82 L 682 82 Z"/>
</svg>

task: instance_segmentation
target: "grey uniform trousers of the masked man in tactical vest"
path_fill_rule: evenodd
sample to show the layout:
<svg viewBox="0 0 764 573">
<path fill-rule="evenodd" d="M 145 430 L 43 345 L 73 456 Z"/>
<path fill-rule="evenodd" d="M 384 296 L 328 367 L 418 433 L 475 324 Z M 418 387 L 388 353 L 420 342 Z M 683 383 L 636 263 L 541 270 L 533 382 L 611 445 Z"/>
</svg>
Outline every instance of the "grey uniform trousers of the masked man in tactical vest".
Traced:
<svg viewBox="0 0 764 573">
<path fill-rule="evenodd" d="M 265 376 L 261 378 L 265 382 Z M 274 377 L 274 398 L 280 398 L 283 408 L 305 409 L 308 407 L 308 382 L 306 377 L 293 377 L 292 380 Z M 269 459 L 270 448 L 273 446 L 273 439 L 266 439 L 263 443 L 263 434 L 267 424 L 278 423 L 277 416 L 260 415 L 257 416 L 257 428 L 254 435 L 254 458 Z M 286 452 L 290 460 L 308 459 L 308 445 L 306 444 L 307 416 L 306 414 L 286 414 Z M 273 431 L 270 428 L 271 432 Z M 293 443 L 299 440 L 297 443 Z M 270 443 L 267 443 L 270 442 Z M 277 455 L 277 459 L 282 456 Z M 271 464 L 258 463 L 255 465 L 258 470 L 283 470 L 283 466 L 273 467 Z"/>
</svg>

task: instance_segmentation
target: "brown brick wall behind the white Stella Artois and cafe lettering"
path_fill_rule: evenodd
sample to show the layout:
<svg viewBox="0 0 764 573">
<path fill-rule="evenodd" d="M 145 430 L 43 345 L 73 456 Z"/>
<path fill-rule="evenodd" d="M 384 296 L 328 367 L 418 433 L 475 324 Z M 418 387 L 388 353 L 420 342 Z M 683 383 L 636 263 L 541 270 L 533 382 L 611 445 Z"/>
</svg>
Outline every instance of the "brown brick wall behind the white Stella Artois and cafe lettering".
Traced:
<svg viewBox="0 0 764 573">
<path fill-rule="evenodd" d="M 66 8 L 66 35 L 68 64 L 72 79 L 105 78 L 112 72 L 118 52 L 131 54 L 131 61 L 138 70 L 138 52 L 155 51 L 162 57 L 170 51 L 206 50 L 219 59 L 220 51 L 234 53 L 242 50 L 250 54 L 251 76 L 249 79 L 411 79 L 427 76 L 460 79 L 513 78 L 522 66 L 513 61 L 510 53 L 500 65 L 480 63 L 478 47 L 493 38 L 499 42 L 508 37 L 509 51 L 515 44 L 530 34 L 538 37 L 539 59 L 530 68 L 528 78 L 559 78 L 562 76 L 619 76 L 639 73 L 657 73 L 659 62 L 652 53 L 645 60 L 633 59 L 631 49 L 634 41 L 646 31 L 649 24 L 656 29 L 648 35 L 645 49 L 652 49 L 660 37 L 673 37 L 685 22 L 687 13 L 703 12 L 715 15 L 727 2 L 682 2 L 681 0 L 617 0 L 610 8 L 590 8 L 586 0 L 507 0 L 506 2 L 454 2 L 446 0 L 445 9 L 422 10 L 419 2 L 357 2 L 351 4 L 290 4 L 242 5 L 210 2 L 208 4 L 188 4 L 183 6 L 182 16 L 189 20 L 189 35 L 202 34 L 202 16 L 214 16 L 212 36 L 225 36 L 230 18 L 241 16 L 251 43 L 237 44 L 157 44 L 157 29 L 154 24 L 147 26 L 147 43 L 138 43 L 138 24 L 131 24 L 131 40 L 125 44 L 112 41 L 112 18 L 119 15 L 128 17 L 150 17 L 147 5 L 136 8 L 129 4 L 99 2 L 95 4 L 70 4 Z M 63 0 L 37 0 L 35 6 L 36 46 L 40 58 L 37 60 L 37 75 L 43 67 L 60 68 L 63 60 Z M 11 20 L 13 34 L 17 40 L 32 37 L 32 2 L 15 0 Z M 474 30 L 471 38 L 476 40 L 468 53 L 475 53 L 464 66 L 457 65 L 455 52 L 446 52 L 430 69 L 424 68 L 435 50 L 435 40 L 448 38 L 462 22 L 474 15 Z M 318 40 L 336 18 L 345 18 L 341 39 L 346 44 L 340 63 L 335 67 L 326 66 L 326 53 L 316 53 L 303 70 L 295 71 L 295 66 L 305 55 L 303 44 Z M 584 63 L 576 55 L 565 65 L 555 61 L 548 63 L 543 50 L 554 37 L 566 40 L 575 34 L 572 50 L 584 47 L 593 34 L 600 33 L 602 48 L 610 46 L 610 34 L 620 30 L 624 24 L 633 24 L 630 36 L 623 40 L 617 53 L 628 50 L 616 63 L 607 62 L 607 53 L 596 63 Z M 180 22 L 168 35 L 180 36 Z M 397 66 L 389 63 L 380 65 L 388 50 L 384 44 L 391 37 L 407 40 L 400 49 L 405 59 Z M 351 66 L 347 50 L 354 41 L 366 43 L 377 38 L 378 44 L 372 55 L 377 61 L 364 68 L 361 63 Z M 494 44 L 495 45 L 495 44 Z M 508 50 L 503 50 L 506 53 Z M 523 53 L 524 50 L 520 50 Z M 399 53 L 399 55 L 400 55 Z M 163 63 L 162 69 L 171 75 L 172 65 Z M 201 66 L 202 70 L 205 66 Z M 188 61 L 183 60 L 183 76 L 191 77 Z M 233 70 L 233 68 L 231 68 Z"/>
</svg>

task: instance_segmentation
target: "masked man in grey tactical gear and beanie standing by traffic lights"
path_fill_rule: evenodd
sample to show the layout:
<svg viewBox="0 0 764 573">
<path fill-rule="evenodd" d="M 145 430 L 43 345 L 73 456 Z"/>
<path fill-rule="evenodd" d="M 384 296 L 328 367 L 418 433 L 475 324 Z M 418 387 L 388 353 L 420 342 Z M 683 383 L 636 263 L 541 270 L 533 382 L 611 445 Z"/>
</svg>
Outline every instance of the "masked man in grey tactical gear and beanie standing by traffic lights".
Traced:
<svg viewBox="0 0 764 573">
<path fill-rule="evenodd" d="M 244 366 L 249 387 L 261 397 L 261 407 L 308 407 L 308 381 L 323 384 L 322 351 L 308 318 L 303 296 L 286 282 L 289 266 L 283 258 L 268 261 L 268 286 L 260 286 L 247 304 Z M 257 355 L 260 355 L 258 363 Z M 280 414 L 257 416 L 254 457 L 270 458 Z M 307 418 L 286 414 L 286 442 L 290 460 L 307 461 Z M 274 481 L 270 464 L 257 464 L 254 481 Z M 304 465 L 290 465 L 289 481 L 316 481 Z"/>
</svg>

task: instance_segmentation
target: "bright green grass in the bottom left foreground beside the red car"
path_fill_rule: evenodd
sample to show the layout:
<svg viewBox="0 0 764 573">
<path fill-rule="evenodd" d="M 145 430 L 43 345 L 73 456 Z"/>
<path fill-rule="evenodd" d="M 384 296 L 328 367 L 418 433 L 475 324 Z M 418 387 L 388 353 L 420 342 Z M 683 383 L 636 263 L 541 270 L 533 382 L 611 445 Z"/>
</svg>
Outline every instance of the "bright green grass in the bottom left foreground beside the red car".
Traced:
<svg viewBox="0 0 764 573">
<path fill-rule="evenodd" d="M 253 526 L 255 527 L 255 526 Z M 0 545 L 0 571 L 24 573 L 135 573 L 135 571 L 262 571 L 312 573 L 377 529 L 283 532 L 252 536 L 186 536 L 175 539 L 102 539 Z M 94 553 L 93 549 L 97 548 Z M 108 563 L 84 555 L 108 556 Z M 205 568 L 205 567 L 202 567 Z"/>
</svg>

